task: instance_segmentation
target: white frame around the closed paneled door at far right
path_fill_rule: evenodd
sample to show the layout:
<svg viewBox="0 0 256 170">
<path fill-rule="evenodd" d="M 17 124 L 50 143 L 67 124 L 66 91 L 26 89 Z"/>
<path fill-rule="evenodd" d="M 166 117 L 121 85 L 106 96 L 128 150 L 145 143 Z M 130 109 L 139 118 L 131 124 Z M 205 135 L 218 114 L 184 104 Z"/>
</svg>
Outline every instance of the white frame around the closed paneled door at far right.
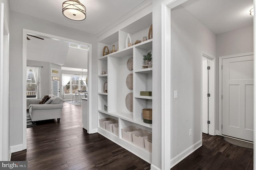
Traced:
<svg viewBox="0 0 256 170">
<path fill-rule="evenodd" d="M 254 55 L 254 52 L 242 53 L 242 54 L 236 54 L 236 55 L 226 55 L 226 56 L 219 57 L 219 130 L 216 130 L 216 134 L 218 135 L 223 136 L 222 134 L 222 60 L 227 58 L 243 57 L 248 55 Z M 255 59 L 254 59 L 254 70 L 255 70 Z M 254 81 L 255 81 L 255 73 L 254 73 Z M 254 97 L 255 97 L 255 91 L 254 91 Z M 254 102 L 255 102 L 255 99 L 254 99 Z M 254 114 L 254 119 L 255 119 L 255 114 Z M 255 126 L 255 122 L 254 122 L 254 126 Z M 254 138 L 254 141 L 255 141 L 255 138 Z"/>
</svg>

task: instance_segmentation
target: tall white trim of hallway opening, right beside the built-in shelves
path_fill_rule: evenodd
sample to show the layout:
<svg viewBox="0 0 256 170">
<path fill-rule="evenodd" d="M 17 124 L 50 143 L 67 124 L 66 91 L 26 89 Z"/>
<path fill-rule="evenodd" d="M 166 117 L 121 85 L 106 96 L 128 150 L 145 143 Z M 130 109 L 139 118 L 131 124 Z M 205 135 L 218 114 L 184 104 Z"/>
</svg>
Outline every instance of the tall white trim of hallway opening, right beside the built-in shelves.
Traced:
<svg viewBox="0 0 256 170">
<path fill-rule="evenodd" d="M 166 0 L 161 4 L 161 169 L 171 168 L 171 9 L 188 0 Z M 174 166 L 174 165 L 172 165 Z"/>
</svg>

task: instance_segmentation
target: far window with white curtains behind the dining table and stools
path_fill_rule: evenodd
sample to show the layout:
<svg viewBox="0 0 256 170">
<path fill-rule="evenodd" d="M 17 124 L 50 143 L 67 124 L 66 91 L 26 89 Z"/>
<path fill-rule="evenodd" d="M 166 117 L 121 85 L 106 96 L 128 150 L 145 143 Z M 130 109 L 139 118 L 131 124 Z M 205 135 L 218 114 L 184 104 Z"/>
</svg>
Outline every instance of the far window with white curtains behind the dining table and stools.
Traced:
<svg viewBox="0 0 256 170">
<path fill-rule="evenodd" d="M 70 90 L 72 89 L 72 90 Z M 80 80 L 79 75 L 74 75 L 64 88 L 65 94 L 74 94 L 78 90 L 87 90 L 86 81 Z"/>
</svg>

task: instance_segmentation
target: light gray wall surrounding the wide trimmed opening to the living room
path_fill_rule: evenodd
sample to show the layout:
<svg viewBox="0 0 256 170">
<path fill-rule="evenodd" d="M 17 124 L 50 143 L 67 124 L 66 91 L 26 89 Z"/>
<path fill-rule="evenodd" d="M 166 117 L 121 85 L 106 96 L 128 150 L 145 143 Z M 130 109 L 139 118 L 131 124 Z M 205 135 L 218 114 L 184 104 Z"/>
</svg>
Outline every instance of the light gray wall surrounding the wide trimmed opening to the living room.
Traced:
<svg viewBox="0 0 256 170">
<path fill-rule="evenodd" d="M 46 34 L 69 38 L 92 44 L 92 75 L 97 75 L 96 36 L 61 26 L 46 20 L 11 11 L 10 13 L 10 145 L 22 144 L 22 29 L 26 28 Z M 92 83 L 97 87 L 97 76 L 92 76 Z M 90 99 L 92 114 L 97 113 L 97 88 L 92 88 Z"/>
</svg>

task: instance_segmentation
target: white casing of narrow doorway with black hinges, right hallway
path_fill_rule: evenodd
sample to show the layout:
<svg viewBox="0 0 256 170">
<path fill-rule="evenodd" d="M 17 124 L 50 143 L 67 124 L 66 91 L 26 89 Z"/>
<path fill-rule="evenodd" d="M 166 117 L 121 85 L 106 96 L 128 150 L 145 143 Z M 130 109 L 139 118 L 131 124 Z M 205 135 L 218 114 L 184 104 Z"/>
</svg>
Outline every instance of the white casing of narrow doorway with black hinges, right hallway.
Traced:
<svg viewBox="0 0 256 170">
<path fill-rule="evenodd" d="M 209 84 L 209 91 L 210 91 L 210 98 L 209 98 L 209 117 L 208 120 L 210 121 L 208 132 L 210 135 L 216 135 L 215 131 L 215 57 L 207 54 L 206 52 L 202 51 L 202 57 L 209 59 L 212 63 L 211 71 L 209 75 L 210 84 Z M 202 71 L 201 71 L 202 73 Z M 202 77 L 202 76 L 201 76 Z M 202 81 L 202 80 L 201 80 Z M 201 83 L 202 84 L 202 83 Z M 202 87 L 201 87 L 202 90 Z M 202 100 L 201 100 L 201 107 L 202 107 Z M 202 116 L 202 111 L 201 111 Z"/>
</svg>

